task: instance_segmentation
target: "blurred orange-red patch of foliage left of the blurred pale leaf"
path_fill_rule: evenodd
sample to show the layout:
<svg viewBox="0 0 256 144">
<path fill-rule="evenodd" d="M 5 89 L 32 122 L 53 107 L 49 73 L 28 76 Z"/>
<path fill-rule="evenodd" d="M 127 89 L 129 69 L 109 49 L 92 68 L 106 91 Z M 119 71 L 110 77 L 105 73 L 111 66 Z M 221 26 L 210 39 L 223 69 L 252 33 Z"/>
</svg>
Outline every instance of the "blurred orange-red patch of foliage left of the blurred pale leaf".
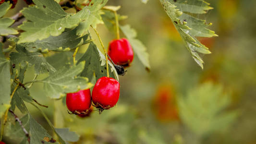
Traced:
<svg viewBox="0 0 256 144">
<path fill-rule="evenodd" d="M 153 98 L 152 108 L 157 119 L 161 122 L 179 120 L 176 95 L 170 84 L 160 85 Z"/>
</svg>

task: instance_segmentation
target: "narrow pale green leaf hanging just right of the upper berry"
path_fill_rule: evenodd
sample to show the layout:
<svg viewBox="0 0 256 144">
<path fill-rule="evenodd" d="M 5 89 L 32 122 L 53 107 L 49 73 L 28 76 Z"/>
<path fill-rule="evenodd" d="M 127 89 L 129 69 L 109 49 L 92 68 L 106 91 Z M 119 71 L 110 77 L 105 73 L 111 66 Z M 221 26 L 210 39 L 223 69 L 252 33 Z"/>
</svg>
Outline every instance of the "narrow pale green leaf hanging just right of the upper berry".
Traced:
<svg viewBox="0 0 256 144">
<path fill-rule="evenodd" d="M 130 25 L 120 26 L 120 28 L 123 34 L 128 38 L 129 42 L 131 43 L 134 52 L 138 56 L 139 60 L 146 67 L 146 69 L 149 70 L 149 55 L 146 52 L 146 47 L 143 45 L 143 43 L 136 39 L 136 31 L 133 28 L 131 28 Z"/>
</svg>

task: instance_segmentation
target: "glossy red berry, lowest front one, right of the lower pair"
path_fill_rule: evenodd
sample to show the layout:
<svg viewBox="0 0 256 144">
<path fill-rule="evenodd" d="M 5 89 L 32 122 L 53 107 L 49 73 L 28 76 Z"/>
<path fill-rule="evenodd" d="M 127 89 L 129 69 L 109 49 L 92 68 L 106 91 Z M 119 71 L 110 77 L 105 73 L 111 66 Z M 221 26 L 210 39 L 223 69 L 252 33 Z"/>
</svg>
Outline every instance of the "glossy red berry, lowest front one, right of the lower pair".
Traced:
<svg viewBox="0 0 256 144">
<path fill-rule="evenodd" d="M 92 101 L 99 108 L 109 109 L 116 105 L 120 95 L 120 84 L 117 80 L 110 77 L 101 77 L 94 85 L 92 91 Z"/>
</svg>

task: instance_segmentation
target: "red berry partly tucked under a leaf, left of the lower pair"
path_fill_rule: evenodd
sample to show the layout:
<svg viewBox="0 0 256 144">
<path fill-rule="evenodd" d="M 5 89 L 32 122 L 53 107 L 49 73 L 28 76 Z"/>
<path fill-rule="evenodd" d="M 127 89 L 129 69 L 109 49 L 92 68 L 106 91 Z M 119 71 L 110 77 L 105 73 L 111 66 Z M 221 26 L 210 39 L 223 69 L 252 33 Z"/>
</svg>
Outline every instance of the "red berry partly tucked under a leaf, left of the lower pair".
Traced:
<svg viewBox="0 0 256 144">
<path fill-rule="evenodd" d="M 73 114 L 86 114 L 91 107 L 90 89 L 68 93 L 66 97 L 66 105 Z"/>
</svg>

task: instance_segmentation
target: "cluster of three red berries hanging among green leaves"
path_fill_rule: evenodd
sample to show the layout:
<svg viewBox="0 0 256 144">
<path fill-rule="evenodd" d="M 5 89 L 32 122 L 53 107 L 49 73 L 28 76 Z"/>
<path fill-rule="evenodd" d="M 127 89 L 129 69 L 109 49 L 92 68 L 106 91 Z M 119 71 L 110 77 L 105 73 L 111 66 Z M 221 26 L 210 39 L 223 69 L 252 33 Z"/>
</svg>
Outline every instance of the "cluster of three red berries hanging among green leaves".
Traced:
<svg viewBox="0 0 256 144">
<path fill-rule="evenodd" d="M 129 66 L 134 59 L 133 49 L 125 38 L 112 40 L 109 45 L 108 54 L 115 64 L 122 66 Z M 119 82 L 110 77 L 101 77 L 94 85 L 92 95 L 90 89 L 68 93 L 66 105 L 72 114 L 87 117 L 93 111 L 92 106 L 98 108 L 98 111 L 101 113 L 104 109 L 114 107 L 119 96 Z"/>
</svg>

